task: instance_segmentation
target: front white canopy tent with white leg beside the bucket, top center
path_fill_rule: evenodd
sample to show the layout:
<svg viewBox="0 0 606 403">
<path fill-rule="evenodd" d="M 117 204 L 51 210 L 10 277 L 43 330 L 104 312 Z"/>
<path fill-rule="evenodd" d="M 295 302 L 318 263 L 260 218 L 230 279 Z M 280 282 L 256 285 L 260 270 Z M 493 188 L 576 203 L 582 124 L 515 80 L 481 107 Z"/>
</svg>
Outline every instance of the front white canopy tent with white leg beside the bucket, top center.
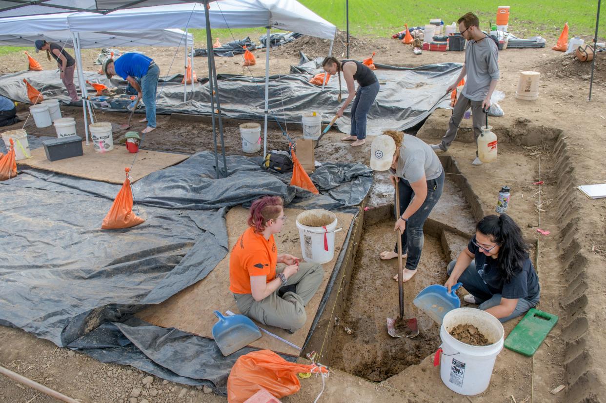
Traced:
<svg viewBox="0 0 606 403">
<path fill-rule="evenodd" d="M 1 2 L 0 2 L 1 3 Z M 210 4 L 187 3 L 157 7 L 128 8 L 107 15 L 73 13 L 67 18 L 72 32 L 156 28 L 206 28 L 205 12 L 211 28 L 267 27 L 265 53 L 265 118 L 263 152 L 267 153 L 270 29 L 278 28 L 318 38 L 334 40 L 335 25 L 316 15 L 296 0 L 220 0 Z M 332 50 L 330 44 L 330 51 Z M 213 55 L 210 55 L 213 56 Z"/>
</svg>

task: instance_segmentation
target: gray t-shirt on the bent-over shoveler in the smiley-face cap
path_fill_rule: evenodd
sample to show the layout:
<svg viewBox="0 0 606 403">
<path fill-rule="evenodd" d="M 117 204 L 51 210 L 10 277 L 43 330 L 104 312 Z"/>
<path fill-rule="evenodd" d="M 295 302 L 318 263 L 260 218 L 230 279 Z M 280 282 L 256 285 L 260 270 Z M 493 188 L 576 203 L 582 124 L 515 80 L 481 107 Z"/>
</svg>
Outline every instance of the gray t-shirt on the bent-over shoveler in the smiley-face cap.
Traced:
<svg viewBox="0 0 606 403">
<path fill-rule="evenodd" d="M 442 164 L 431 146 L 419 138 L 404 135 L 396 176 L 408 182 L 416 182 L 423 178 L 430 181 L 442 175 Z"/>
</svg>

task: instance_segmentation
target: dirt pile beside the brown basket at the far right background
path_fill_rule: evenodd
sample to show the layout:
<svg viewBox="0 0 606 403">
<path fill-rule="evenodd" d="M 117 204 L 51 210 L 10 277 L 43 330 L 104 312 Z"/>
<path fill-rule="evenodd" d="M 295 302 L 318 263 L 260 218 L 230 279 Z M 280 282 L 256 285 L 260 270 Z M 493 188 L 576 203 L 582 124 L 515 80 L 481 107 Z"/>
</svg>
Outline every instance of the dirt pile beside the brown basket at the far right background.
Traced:
<svg viewBox="0 0 606 403">
<path fill-rule="evenodd" d="M 544 64 L 537 65 L 537 68 L 551 79 L 580 78 L 589 81 L 591 78 L 591 62 L 579 61 L 574 53 L 551 59 Z M 606 52 L 596 53 L 593 83 L 606 85 Z"/>
</svg>

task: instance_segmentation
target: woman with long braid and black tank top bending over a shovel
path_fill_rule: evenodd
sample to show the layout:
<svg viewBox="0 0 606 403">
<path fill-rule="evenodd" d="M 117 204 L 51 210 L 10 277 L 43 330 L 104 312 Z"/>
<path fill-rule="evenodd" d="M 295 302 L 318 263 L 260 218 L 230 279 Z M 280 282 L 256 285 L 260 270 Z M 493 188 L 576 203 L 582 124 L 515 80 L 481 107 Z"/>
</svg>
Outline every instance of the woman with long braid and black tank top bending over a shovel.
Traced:
<svg viewBox="0 0 606 403">
<path fill-rule="evenodd" d="M 375 73 L 361 62 L 354 60 L 344 60 L 339 62 L 336 58 L 328 56 L 322 62 L 324 71 L 331 76 L 338 75 L 339 78 L 339 98 L 341 102 L 341 73 L 347 84 L 348 96 L 345 102 L 339 108 L 336 115 L 338 118 L 343 116 L 345 108 L 351 105 L 351 131 L 349 136 L 342 138 L 342 141 L 353 141 L 351 145 L 354 147 L 365 143 L 366 139 L 366 115 L 370 110 L 371 105 L 375 101 L 379 93 L 379 81 Z M 358 90 L 355 90 L 354 81 L 358 81 Z M 354 99 L 354 96 L 356 99 Z"/>
</svg>

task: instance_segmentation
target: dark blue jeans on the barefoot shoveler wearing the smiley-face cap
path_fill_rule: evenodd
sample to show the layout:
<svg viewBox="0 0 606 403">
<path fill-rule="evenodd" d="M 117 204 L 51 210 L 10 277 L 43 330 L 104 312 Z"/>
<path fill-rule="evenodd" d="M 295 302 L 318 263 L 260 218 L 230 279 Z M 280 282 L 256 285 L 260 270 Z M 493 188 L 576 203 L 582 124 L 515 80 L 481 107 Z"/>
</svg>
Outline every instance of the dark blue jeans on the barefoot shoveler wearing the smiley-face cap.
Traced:
<svg viewBox="0 0 606 403">
<path fill-rule="evenodd" d="M 413 196 L 415 196 L 415 191 L 410 187 L 410 182 L 404 178 L 400 178 L 398 188 L 400 190 L 400 214 L 402 215 L 413 199 Z M 402 254 L 408 253 L 408 257 L 406 258 L 406 268 L 408 270 L 416 270 L 419 264 L 423 242 L 425 241 L 423 225 L 429 217 L 431 209 L 433 209 L 433 206 L 436 205 L 440 196 L 442 196 L 443 188 L 444 171 L 442 171 L 442 175 L 438 176 L 438 178 L 427 181 L 427 197 L 425 201 L 421 204 L 419 210 L 415 211 L 415 214 L 408 218 L 406 229 L 402 234 Z M 393 251 L 398 253 L 398 242 L 396 242 Z"/>
</svg>

